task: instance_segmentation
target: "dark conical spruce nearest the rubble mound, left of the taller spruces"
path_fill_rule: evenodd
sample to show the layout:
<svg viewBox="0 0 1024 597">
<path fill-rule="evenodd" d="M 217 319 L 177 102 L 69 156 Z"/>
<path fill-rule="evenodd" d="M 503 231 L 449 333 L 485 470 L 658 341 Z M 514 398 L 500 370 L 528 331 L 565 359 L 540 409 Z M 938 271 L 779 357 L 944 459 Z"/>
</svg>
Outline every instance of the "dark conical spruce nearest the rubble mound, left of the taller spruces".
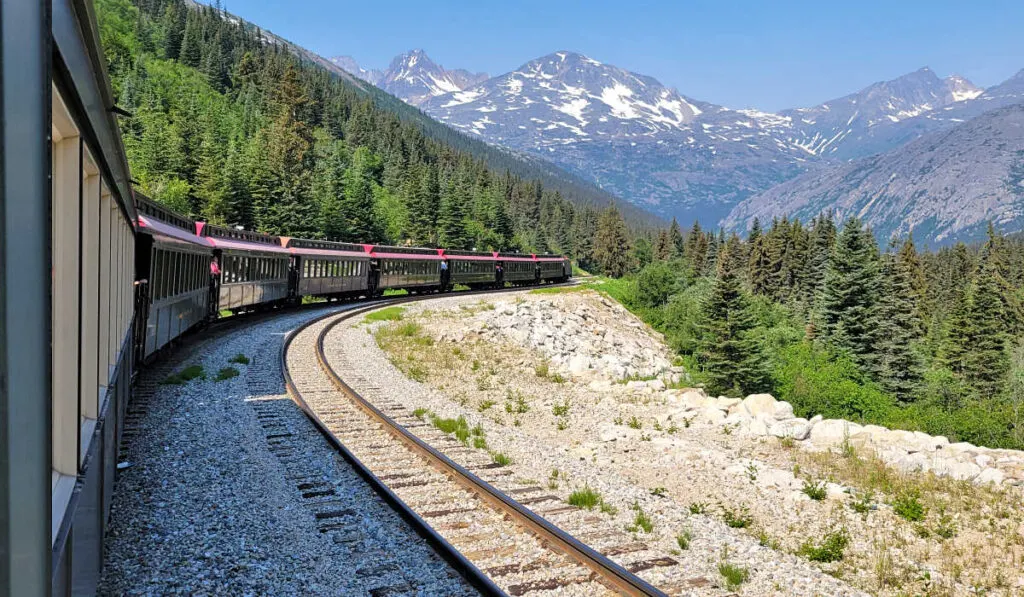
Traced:
<svg viewBox="0 0 1024 597">
<path fill-rule="evenodd" d="M 744 395 L 763 381 L 758 346 L 750 334 L 756 322 L 737 275 L 739 258 L 740 242 L 733 236 L 721 251 L 715 284 L 702 305 L 699 354 L 714 393 Z"/>
</svg>

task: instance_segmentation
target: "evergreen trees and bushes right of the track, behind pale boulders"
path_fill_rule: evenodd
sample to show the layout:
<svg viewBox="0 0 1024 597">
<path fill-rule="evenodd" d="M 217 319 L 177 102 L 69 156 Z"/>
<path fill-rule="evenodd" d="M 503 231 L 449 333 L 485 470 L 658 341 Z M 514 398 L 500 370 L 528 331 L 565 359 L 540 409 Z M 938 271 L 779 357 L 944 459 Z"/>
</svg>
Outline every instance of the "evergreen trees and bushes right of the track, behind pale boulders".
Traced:
<svg viewBox="0 0 1024 597">
<path fill-rule="evenodd" d="M 599 218 L 596 264 L 711 392 L 771 391 L 804 415 L 1024 447 L 1024 241 L 884 249 L 830 215 L 745 239 L 678 223 L 631 241 Z"/>
</svg>

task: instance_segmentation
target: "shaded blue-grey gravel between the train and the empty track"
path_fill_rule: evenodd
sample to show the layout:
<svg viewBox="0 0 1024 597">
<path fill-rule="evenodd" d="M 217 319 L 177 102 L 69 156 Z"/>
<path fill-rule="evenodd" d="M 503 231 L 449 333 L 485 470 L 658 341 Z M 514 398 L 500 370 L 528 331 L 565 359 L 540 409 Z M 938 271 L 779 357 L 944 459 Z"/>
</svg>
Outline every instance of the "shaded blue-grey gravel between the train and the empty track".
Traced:
<svg viewBox="0 0 1024 597">
<path fill-rule="evenodd" d="M 284 337 L 324 312 L 185 347 L 174 371 L 202 365 L 207 379 L 158 385 L 129 408 L 141 414 L 123 446 L 100 594 L 475 594 L 285 394 Z M 249 365 L 229 363 L 239 354 Z M 228 367 L 239 375 L 214 381 Z M 143 372 L 142 385 L 166 373 Z"/>
</svg>

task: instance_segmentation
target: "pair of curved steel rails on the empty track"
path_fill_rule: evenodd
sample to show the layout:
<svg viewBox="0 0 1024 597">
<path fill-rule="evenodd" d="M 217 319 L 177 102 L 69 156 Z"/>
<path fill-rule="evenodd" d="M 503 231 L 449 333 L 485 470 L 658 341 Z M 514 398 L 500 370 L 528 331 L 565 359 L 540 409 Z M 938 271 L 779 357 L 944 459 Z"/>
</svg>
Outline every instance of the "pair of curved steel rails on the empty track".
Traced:
<svg viewBox="0 0 1024 597">
<path fill-rule="evenodd" d="M 417 437 L 414 433 L 406 429 L 402 425 L 396 423 L 390 417 L 388 417 L 387 415 L 382 413 L 379 409 L 377 409 L 373 403 L 371 403 L 369 400 L 359 395 L 359 393 L 353 390 L 347 383 L 345 383 L 345 381 L 342 380 L 341 377 L 337 374 L 337 372 L 331 367 L 331 364 L 329 363 L 329 359 L 327 358 L 327 355 L 325 353 L 324 345 L 327 335 L 338 324 L 350 319 L 351 317 L 364 314 L 366 312 L 379 309 L 383 306 L 391 306 L 408 302 L 429 300 L 431 298 L 439 298 L 439 297 L 428 295 L 428 296 L 401 298 L 401 299 L 387 301 L 386 303 L 377 303 L 371 306 L 345 311 L 343 313 L 331 313 L 325 315 L 324 317 L 317 317 L 315 321 L 304 325 L 302 328 L 296 330 L 293 334 L 289 335 L 289 337 L 286 339 L 285 347 L 283 348 L 282 351 L 282 358 L 283 358 L 282 363 L 283 367 L 285 368 L 284 371 L 286 372 L 286 380 L 288 380 L 287 383 L 289 385 L 289 393 L 292 394 L 292 398 L 296 400 L 296 402 L 303 410 L 303 412 L 305 412 L 306 415 L 316 425 L 316 427 L 321 429 L 321 432 L 327 435 L 331 439 L 332 443 L 334 443 L 339 450 L 343 451 L 346 460 L 352 462 L 357 469 L 366 470 L 366 467 L 362 466 L 361 463 L 359 463 L 357 459 L 354 458 L 354 455 L 351 455 L 351 453 L 349 453 L 347 449 L 344 447 L 342 442 L 330 432 L 330 430 L 318 419 L 315 413 L 313 413 L 312 410 L 309 408 L 309 406 L 305 403 L 299 392 L 295 391 L 295 386 L 292 383 L 291 377 L 287 371 L 287 363 L 284 360 L 285 355 L 287 354 L 288 346 L 290 345 L 291 341 L 302 330 L 305 330 L 307 327 L 313 324 L 323 322 L 326 318 L 334 316 L 335 321 L 328 324 L 328 326 L 321 332 L 316 340 L 316 357 L 317 360 L 319 361 L 321 368 L 324 370 L 327 376 L 331 379 L 334 386 L 340 392 L 348 396 L 349 399 L 351 399 L 357 407 L 359 407 L 373 419 L 382 423 L 385 429 L 389 433 L 391 433 L 391 435 L 399 439 L 414 453 L 424 457 L 435 468 L 450 475 L 462 486 L 464 486 L 465 488 L 467 488 L 468 491 L 479 497 L 483 502 L 504 512 L 512 520 L 521 524 L 524 528 L 534 532 L 543 541 L 547 542 L 548 545 L 550 547 L 553 547 L 555 551 L 565 553 L 567 556 L 569 556 L 580 564 L 586 566 L 587 568 L 590 568 L 598 579 L 607 584 L 611 589 L 617 591 L 623 595 L 664 596 L 665 593 L 659 591 L 654 586 L 650 585 L 649 583 L 639 578 L 635 573 L 627 570 L 626 568 L 615 563 L 614 561 L 610 560 L 609 558 L 605 557 L 604 555 L 597 552 L 593 548 L 582 543 L 581 541 L 568 535 L 561 528 L 555 526 L 543 516 L 534 513 L 529 509 L 525 508 L 524 506 L 522 506 L 521 504 L 519 504 L 518 502 L 507 496 L 505 493 L 499 491 L 490 483 L 487 483 L 483 479 L 479 478 L 478 476 L 467 470 L 462 465 L 454 462 L 453 460 L 451 460 L 450 458 L 447 458 L 446 456 L 435 450 L 433 446 L 431 446 L 427 442 Z M 427 528 L 424 529 L 424 531 L 430 537 L 436 537 L 436 541 L 439 542 L 437 543 L 437 545 L 442 545 L 443 550 L 454 551 L 455 553 L 451 554 L 451 557 L 454 559 L 454 561 L 460 562 L 459 565 L 457 566 L 460 568 L 460 571 L 462 571 L 463 569 L 460 566 L 465 566 L 464 569 L 466 571 L 469 571 L 473 574 L 482 575 L 482 572 L 480 572 L 475 565 L 466 560 L 465 557 L 462 556 L 461 553 L 458 553 L 458 550 L 452 547 L 451 544 L 449 544 L 445 540 L 437 536 L 436 531 L 434 531 L 433 528 L 429 526 L 429 524 L 423 521 L 422 518 L 419 517 L 419 515 L 413 512 L 403 502 L 400 501 L 400 499 L 394 496 L 394 494 L 390 489 L 388 489 L 380 479 L 374 476 L 373 473 L 367 470 L 364 476 L 366 476 L 368 480 L 371 482 L 371 484 L 374 485 L 375 489 L 378 489 L 379 494 L 381 494 L 382 496 L 386 496 L 387 497 L 386 499 L 389 502 L 392 502 L 393 500 L 392 505 L 394 505 L 395 508 L 398 509 L 400 512 L 403 512 L 403 516 L 408 516 L 409 518 L 417 520 L 418 521 L 417 524 L 422 524 L 426 526 Z M 445 555 L 447 556 L 449 554 Z M 469 580 L 469 577 L 467 577 L 467 580 Z M 473 581 L 470 580 L 470 582 L 472 583 Z M 494 582 L 490 581 L 489 579 L 486 579 L 486 583 L 488 589 L 493 588 L 493 590 L 497 590 L 499 594 L 504 594 L 501 591 L 501 589 L 498 589 L 497 586 L 494 584 Z"/>
</svg>

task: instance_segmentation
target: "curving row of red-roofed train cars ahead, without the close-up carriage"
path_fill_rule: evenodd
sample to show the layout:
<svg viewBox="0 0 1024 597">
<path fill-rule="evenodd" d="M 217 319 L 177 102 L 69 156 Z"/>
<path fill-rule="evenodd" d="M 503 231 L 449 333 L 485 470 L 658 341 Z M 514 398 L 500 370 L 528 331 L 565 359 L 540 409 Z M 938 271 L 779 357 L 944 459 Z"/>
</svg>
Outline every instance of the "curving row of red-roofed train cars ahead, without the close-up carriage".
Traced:
<svg viewBox="0 0 1024 597">
<path fill-rule="evenodd" d="M 135 355 L 145 361 L 222 312 L 562 283 L 561 255 L 338 243 L 193 220 L 135 193 Z"/>
</svg>

